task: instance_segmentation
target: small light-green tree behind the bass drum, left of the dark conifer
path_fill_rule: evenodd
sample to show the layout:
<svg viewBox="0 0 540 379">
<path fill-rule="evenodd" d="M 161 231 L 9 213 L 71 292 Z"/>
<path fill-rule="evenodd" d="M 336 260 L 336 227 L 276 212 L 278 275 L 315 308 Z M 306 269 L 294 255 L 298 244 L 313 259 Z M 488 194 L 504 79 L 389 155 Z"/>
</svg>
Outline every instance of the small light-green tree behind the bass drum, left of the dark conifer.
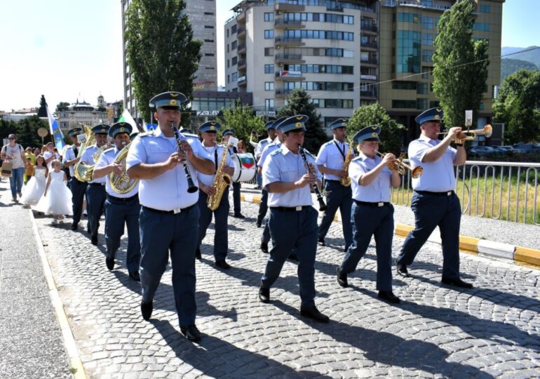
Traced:
<svg viewBox="0 0 540 379">
<path fill-rule="evenodd" d="M 249 142 L 251 132 L 256 131 L 258 134 L 265 132 L 264 120 L 255 116 L 253 109 L 242 105 L 239 99 L 231 109 L 222 109 L 219 121 L 222 123 L 222 130 L 225 128 L 234 130 L 236 138 L 245 142 L 248 152 L 253 152 L 253 147 Z"/>
</svg>

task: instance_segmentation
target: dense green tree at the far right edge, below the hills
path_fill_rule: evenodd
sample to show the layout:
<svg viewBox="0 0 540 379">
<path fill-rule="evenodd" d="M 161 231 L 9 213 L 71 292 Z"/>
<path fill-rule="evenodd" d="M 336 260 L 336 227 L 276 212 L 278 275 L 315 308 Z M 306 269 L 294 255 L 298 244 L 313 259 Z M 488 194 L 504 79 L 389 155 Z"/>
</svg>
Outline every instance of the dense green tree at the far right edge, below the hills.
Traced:
<svg viewBox="0 0 540 379">
<path fill-rule="evenodd" d="M 506 77 L 493 113 L 506 124 L 507 142 L 540 141 L 540 72 L 520 69 Z"/>
</svg>

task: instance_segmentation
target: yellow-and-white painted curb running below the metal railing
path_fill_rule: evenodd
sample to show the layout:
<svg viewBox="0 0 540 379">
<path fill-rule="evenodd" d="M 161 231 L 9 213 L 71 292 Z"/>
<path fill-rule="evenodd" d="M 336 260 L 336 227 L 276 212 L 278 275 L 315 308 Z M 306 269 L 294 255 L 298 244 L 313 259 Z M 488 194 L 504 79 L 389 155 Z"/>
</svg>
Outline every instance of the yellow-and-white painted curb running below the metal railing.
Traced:
<svg viewBox="0 0 540 379">
<path fill-rule="evenodd" d="M 259 204 L 260 195 L 240 194 L 241 201 Z M 320 212 L 322 214 L 322 212 Z M 336 212 L 334 222 L 341 222 L 339 212 Z M 396 224 L 394 234 L 398 237 L 407 237 L 414 227 L 410 225 Z M 433 232 L 428 238 L 429 242 L 441 244 L 440 237 Z M 509 260 L 516 265 L 523 265 L 531 268 L 540 269 L 540 250 L 534 248 L 525 248 L 522 246 L 513 246 L 503 242 L 488 241 L 487 239 L 478 239 L 474 237 L 459 236 L 459 250 L 466 253 L 480 255 L 485 258 L 497 258 Z"/>
</svg>

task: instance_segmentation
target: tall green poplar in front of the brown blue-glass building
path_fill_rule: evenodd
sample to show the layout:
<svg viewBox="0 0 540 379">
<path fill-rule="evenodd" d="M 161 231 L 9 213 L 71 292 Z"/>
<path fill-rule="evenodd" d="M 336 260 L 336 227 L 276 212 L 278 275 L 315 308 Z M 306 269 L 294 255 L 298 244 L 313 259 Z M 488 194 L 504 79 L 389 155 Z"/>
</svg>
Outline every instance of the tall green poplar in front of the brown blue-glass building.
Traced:
<svg viewBox="0 0 540 379">
<path fill-rule="evenodd" d="M 486 91 L 487 41 L 473 41 L 473 12 L 472 1 L 454 4 L 440 17 L 433 44 L 433 92 L 449 126 L 463 126 L 466 109 L 476 114 Z"/>
</svg>

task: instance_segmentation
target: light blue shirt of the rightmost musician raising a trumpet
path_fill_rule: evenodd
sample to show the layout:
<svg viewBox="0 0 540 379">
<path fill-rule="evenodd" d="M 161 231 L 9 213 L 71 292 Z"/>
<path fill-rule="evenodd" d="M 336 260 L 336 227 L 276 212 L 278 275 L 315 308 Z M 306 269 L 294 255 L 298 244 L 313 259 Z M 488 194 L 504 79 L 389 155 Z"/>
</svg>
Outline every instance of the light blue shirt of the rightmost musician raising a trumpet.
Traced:
<svg viewBox="0 0 540 379">
<path fill-rule="evenodd" d="M 454 159 L 457 150 L 448 147 L 443 157 L 434 162 L 422 162 L 428 149 L 436 146 L 440 140 L 431 140 L 425 135 L 420 135 L 417 140 L 409 144 L 409 159 L 412 168 L 424 167 L 424 173 L 420 178 L 412 179 L 412 188 L 419 191 L 446 192 L 456 188 L 456 177 L 454 173 Z"/>
</svg>

